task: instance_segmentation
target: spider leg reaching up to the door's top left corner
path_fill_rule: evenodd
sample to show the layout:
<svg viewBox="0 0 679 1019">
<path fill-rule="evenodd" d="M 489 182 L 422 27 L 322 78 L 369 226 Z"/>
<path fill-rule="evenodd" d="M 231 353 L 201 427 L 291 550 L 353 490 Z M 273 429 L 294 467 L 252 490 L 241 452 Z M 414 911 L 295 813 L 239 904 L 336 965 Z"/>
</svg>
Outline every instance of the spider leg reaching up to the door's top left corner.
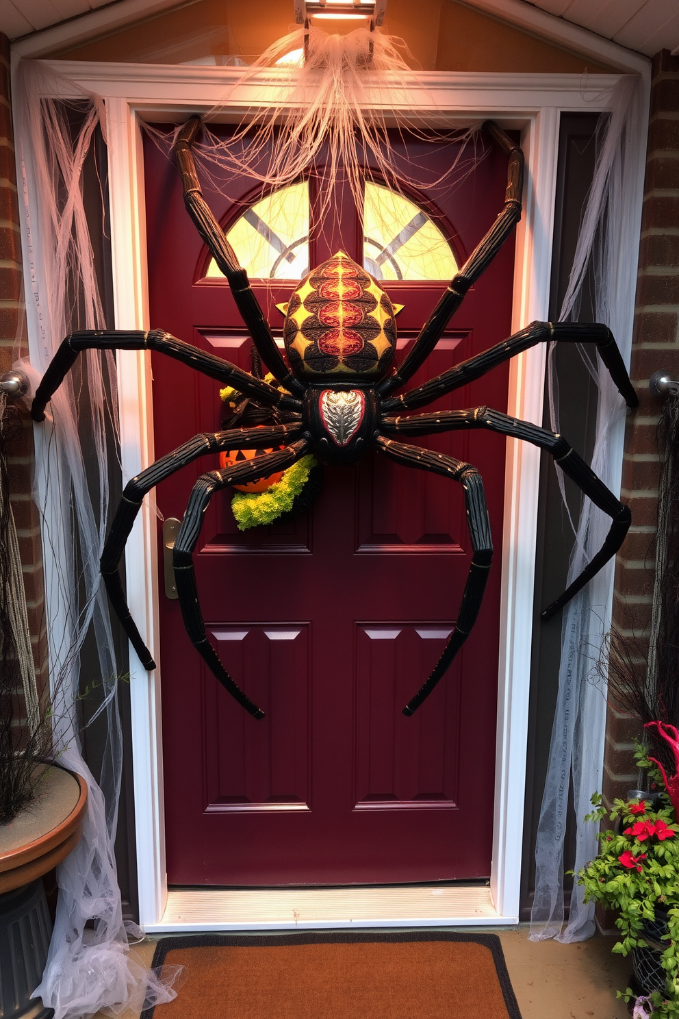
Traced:
<svg viewBox="0 0 679 1019">
<path fill-rule="evenodd" d="M 195 228 L 208 246 L 215 262 L 226 276 L 238 311 L 249 329 L 250 336 L 263 361 L 281 385 L 289 389 L 290 392 L 301 395 L 304 392 L 303 383 L 290 373 L 281 352 L 276 346 L 269 323 L 265 319 L 260 303 L 249 285 L 247 273 L 238 264 L 236 253 L 224 236 L 223 229 L 203 196 L 191 152 L 191 145 L 201 127 L 201 117 L 190 117 L 179 131 L 174 146 L 177 168 L 184 189 L 186 211 L 193 220 Z"/>
</svg>

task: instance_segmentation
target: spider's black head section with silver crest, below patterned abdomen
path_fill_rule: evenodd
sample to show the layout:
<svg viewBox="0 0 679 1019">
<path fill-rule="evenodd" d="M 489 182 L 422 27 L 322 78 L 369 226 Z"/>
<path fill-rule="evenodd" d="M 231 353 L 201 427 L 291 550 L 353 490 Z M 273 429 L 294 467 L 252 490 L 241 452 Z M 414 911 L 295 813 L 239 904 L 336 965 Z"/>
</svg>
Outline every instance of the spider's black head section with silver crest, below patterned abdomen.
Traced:
<svg viewBox="0 0 679 1019">
<path fill-rule="evenodd" d="M 355 463 L 375 433 L 375 390 L 372 387 L 309 386 L 305 418 L 314 450 L 324 463 Z"/>
</svg>

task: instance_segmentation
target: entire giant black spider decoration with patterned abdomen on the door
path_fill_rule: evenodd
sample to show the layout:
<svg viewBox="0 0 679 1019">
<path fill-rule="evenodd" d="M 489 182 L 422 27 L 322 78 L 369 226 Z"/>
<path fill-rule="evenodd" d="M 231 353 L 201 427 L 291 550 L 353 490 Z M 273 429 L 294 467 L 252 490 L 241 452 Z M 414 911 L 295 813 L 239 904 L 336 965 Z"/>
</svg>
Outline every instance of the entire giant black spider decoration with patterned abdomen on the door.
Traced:
<svg viewBox="0 0 679 1019">
<path fill-rule="evenodd" d="M 155 663 L 129 613 L 118 567 L 145 495 L 160 481 L 206 453 L 248 444 L 276 447 L 236 466 L 209 471 L 195 482 L 174 545 L 173 567 L 177 593 L 188 636 L 213 675 L 253 717 L 261 710 L 231 679 L 208 641 L 193 570 L 203 518 L 215 492 L 233 484 L 254 481 L 290 467 L 307 452 L 323 463 L 352 464 L 376 449 L 397 464 L 433 471 L 458 482 L 464 491 L 473 554 L 457 613 L 457 622 L 432 675 L 403 708 L 410 715 L 446 673 L 474 625 L 493 557 L 484 484 L 471 464 L 400 440 L 466 428 L 486 428 L 501 435 L 525 439 L 546 449 L 561 469 L 589 496 L 612 524 L 601 550 L 564 593 L 543 612 L 547 619 L 561 608 L 618 550 L 630 524 L 623 505 L 566 440 L 525 421 L 517 421 L 488 407 L 467 411 L 440 411 L 404 416 L 402 412 L 427 404 L 477 379 L 514 355 L 549 340 L 593 342 L 628 407 L 636 394 L 615 339 L 605 325 L 532 322 L 497 346 L 455 365 L 416 389 L 392 395 L 412 377 L 436 346 L 466 291 L 490 265 L 521 215 L 523 155 L 493 121 L 483 129 L 509 159 L 507 191 L 502 212 L 455 275 L 402 364 L 388 369 L 396 347 L 396 325 L 391 302 L 380 285 L 342 252 L 313 269 L 296 288 L 285 318 L 284 340 L 288 361 L 279 352 L 244 269 L 203 197 L 191 145 L 201 128 L 190 118 L 177 138 L 175 155 L 184 189 L 184 204 L 201 236 L 226 276 L 238 310 L 262 360 L 277 382 L 269 385 L 221 358 L 176 339 L 160 329 L 73 332 L 63 340 L 36 392 L 32 415 L 42 421 L 45 406 L 62 382 L 80 351 L 152 350 L 175 358 L 224 385 L 234 386 L 272 413 L 285 412 L 285 424 L 228 429 L 194 436 L 163 457 L 125 487 L 101 558 L 109 598 L 134 650 L 147 669 Z"/>
</svg>

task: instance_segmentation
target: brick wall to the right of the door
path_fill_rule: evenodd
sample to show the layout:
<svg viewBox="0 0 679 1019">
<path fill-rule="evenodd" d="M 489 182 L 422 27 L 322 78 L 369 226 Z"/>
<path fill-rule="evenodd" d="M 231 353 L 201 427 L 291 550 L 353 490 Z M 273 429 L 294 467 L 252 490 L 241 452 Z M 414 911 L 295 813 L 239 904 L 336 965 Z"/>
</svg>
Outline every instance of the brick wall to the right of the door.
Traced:
<svg viewBox="0 0 679 1019">
<path fill-rule="evenodd" d="M 623 634 L 650 622 L 660 457 L 657 429 L 662 398 L 648 378 L 658 369 L 679 378 L 679 57 L 654 58 L 650 122 L 641 220 L 641 247 L 630 374 L 639 408 L 625 437 L 622 497 L 632 526 L 618 556 L 613 621 Z M 604 795 L 610 802 L 637 784 L 632 759 L 638 723 L 609 706 Z"/>
</svg>

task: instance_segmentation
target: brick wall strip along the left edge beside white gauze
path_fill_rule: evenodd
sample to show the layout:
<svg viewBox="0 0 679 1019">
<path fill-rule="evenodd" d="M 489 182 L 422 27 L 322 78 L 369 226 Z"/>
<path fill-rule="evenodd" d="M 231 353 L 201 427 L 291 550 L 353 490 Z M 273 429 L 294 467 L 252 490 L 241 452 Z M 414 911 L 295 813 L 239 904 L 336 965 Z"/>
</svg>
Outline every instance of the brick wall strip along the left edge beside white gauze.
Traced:
<svg viewBox="0 0 679 1019">
<path fill-rule="evenodd" d="M 12 364 L 17 336 L 25 335 L 21 285 L 19 213 L 9 100 L 9 40 L 0 33 L 0 373 Z M 19 354 L 25 354 L 19 346 Z M 31 495 L 34 464 L 33 423 L 27 414 L 10 412 L 7 468 L 10 500 L 21 552 L 23 585 L 34 660 L 43 690 L 47 678 L 45 589 L 40 518 Z"/>
</svg>

